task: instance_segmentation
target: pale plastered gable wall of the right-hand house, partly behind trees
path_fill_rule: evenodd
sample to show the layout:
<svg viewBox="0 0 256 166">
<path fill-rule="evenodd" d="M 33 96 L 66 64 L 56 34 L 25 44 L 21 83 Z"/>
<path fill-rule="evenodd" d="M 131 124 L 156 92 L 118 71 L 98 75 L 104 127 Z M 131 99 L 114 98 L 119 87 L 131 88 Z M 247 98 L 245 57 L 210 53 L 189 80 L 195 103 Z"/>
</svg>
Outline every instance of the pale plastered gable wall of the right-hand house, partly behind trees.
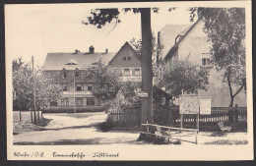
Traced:
<svg viewBox="0 0 256 166">
<path fill-rule="evenodd" d="M 211 42 L 208 41 L 207 34 L 203 31 L 204 23 L 199 21 L 194 28 L 180 41 L 177 52 L 178 59 L 189 60 L 194 65 L 202 66 L 202 58 L 210 58 Z M 174 56 L 168 60 L 173 63 Z M 230 103 L 229 88 L 227 83 L 223 83 L 224 72 L 217 72 L 215 66 L 212 66 L 209 76 L 209 88 L 207 91 L 199 90 L 200 98 L 211 99 L 212 107 L 227 107 Z M 233 93 L 238 86 L 232 86 Z M 246 91 L 242 89 L 234 98 L 234 104 L 245 107 Z M 233 105 L 234 105 L 233 104 Z"/>
</svg>

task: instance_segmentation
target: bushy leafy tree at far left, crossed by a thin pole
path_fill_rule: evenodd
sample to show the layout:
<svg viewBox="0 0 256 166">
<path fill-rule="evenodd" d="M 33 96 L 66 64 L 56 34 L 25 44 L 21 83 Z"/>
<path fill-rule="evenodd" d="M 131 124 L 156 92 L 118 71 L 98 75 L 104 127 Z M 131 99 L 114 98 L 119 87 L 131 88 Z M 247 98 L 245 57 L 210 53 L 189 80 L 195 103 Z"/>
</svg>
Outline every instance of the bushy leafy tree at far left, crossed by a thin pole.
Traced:
<svg viewBox="0 0 256 166">
<path fill-rule="evenodd" d="M 18 64 L 22 64 L 17 67 Z M 13 98 L 14 110 L 29 110 L 33 108 L 33 83 L 35 83 L 35 103 L 39 110 L 49 102 L 55 101 L 60 97 L 61 86 L 53 83 L 51 78 L 44 76 L 40 69 L 34 70 L 29 64 L 24 64 L 21 59 L 13 61 L 13 90 L 16 97 Z"/>
</svg>

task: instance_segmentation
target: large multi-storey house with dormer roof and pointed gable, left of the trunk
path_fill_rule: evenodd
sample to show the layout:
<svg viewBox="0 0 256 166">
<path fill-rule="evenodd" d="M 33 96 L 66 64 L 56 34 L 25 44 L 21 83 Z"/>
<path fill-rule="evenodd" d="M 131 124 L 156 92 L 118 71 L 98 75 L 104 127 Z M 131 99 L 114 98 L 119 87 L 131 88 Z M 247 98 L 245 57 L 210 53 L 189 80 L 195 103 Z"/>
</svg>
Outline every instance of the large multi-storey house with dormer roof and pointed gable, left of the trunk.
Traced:
<svg viewBox="0 0 256 166">
<path fill-rule="evenodd" d="M 48 53 L 43 65 L 45 75 L 61 83 L 61 98 L 49 104 L 49 109 L 70 110 L 92 108 L 101 104 L 92 94 L 95 78 L 86 77 L 86 68 L 101 59 L 108 67 L 123 73 L 122 81 L 141 82 L 141 62 L 132 46 L 125 42 L 118 52 L 88 52 L 75 50 L 71 53 Z M 75 105 L 74 105 L 75 104 Z M 75 107 L 76 106 L 76 107 Z"/>
</svg>

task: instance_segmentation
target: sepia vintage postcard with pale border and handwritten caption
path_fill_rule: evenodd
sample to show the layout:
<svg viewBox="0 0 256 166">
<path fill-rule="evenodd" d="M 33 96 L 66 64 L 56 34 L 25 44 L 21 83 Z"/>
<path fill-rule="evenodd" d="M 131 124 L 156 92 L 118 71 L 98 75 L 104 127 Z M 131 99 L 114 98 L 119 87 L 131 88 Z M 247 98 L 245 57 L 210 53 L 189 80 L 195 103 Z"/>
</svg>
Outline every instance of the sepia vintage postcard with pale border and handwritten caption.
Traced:
<svg viewBox="0 0 256 166">
<path fill-rule="evenodd" d="M 250 3 L 195 4 L 5 5 L 8 157 L 252 157 Z"/>
</svg>

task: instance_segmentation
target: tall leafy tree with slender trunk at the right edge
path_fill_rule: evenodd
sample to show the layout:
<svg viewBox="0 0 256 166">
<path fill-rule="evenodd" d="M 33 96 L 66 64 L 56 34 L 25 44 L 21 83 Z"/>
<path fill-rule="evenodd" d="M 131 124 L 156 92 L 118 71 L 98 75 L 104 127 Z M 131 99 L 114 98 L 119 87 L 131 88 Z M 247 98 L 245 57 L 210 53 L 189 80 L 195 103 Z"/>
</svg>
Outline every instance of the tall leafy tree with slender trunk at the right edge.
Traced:
<svg viewBox="0 0 256 166">
<path fill-rule="evenodd" d="M 224 71 L 223 81 L 228 84 L 232 107 L 234 97 L 246 85 L 245 9 L 191 8 L 190 11 L 191 20 L 198 12 L 205 23 L 204 30 L 213 43 L 213 63 L 218 71 Z"/>
</svg>

